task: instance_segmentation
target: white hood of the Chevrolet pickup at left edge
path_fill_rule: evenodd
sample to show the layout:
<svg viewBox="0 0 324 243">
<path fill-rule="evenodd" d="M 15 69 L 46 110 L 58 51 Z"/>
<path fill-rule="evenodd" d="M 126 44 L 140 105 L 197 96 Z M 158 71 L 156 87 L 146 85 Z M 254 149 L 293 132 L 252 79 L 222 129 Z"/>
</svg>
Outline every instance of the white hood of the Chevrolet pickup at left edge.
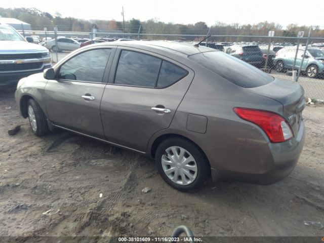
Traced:
<svg viewBox="0 0 324 243">
<path fill-rule="evenodd" d="M 48 51 L 45 47 L 24 41 L 0 41 L 0 53 L 33 53 Z"/>
</svg>

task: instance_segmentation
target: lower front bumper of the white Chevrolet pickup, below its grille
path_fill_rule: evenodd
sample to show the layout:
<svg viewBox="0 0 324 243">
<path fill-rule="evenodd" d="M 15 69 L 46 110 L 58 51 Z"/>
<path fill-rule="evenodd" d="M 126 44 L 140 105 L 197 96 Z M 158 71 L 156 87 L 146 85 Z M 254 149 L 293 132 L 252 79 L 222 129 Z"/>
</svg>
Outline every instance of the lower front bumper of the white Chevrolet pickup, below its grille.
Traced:
<svg viewBox="0 0 324 243">
<path fill-rule="evenodd" d="M 45 65 L 42 69 L 32 71 L 0 73 L 0 87 L 15 87 L 19 79 L 34 73 L 43 72 L 44 69 L 50 68 L 51 66 L 51 64 Z"/>
</svg>

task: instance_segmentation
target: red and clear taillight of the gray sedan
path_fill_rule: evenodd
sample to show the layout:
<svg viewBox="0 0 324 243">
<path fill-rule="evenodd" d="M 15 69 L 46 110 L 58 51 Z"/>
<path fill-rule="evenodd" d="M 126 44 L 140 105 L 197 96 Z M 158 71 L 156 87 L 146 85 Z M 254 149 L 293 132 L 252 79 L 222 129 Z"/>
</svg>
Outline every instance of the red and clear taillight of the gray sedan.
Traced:
<svg viewBox="0 0 324 243">
<path fill-rule="evenodd" d="M 259 126 L 272 143 L 285 142 L 293 137 L 290 125 L 279 114 L 238 107 L 235 107 L 233 110 L 240 118 Z"/>
</svg>

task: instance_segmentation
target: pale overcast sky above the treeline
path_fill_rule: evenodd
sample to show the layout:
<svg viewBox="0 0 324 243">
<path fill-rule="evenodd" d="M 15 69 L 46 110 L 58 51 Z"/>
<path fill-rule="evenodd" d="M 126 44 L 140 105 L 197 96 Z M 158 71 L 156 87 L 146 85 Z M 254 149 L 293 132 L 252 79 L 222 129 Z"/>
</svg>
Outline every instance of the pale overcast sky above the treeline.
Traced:
<svg viewBox="0 0 324 243">
<path fill-rule="evenodd" d="M 37 8 L 63 17 L 80 19 L 115 19 L 122 21 L 121 7 L 124 6 L 125 20 L 141 21 L 156 18 L 173 23 L 206 22 L 209 26 L 216 21 L 225 23 L 254 24 L 261 21 L 275 22 L 282 26 L 298 25 L 324 26 L 323 0 L 304 2 L 299 0 L 1 0 L 3 8 Z"/>
</svg>

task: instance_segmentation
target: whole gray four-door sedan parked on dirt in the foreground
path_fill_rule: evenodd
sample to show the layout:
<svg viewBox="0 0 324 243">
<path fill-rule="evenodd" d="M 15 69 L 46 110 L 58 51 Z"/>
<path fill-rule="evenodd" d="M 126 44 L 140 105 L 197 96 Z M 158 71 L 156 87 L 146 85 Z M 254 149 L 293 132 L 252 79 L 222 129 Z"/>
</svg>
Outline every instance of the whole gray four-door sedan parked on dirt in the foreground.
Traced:
<svg viewBox="0 0 324 243">
<path fill-rule="evenodd" d="M 189 191 L 289 175 L 304 143 L 303 92 L 211 48 L 132 41 L 80 48 L 21 79 L 15 95 L 36 136 L 61 128 L 139 152 Z"/>
</svg>

